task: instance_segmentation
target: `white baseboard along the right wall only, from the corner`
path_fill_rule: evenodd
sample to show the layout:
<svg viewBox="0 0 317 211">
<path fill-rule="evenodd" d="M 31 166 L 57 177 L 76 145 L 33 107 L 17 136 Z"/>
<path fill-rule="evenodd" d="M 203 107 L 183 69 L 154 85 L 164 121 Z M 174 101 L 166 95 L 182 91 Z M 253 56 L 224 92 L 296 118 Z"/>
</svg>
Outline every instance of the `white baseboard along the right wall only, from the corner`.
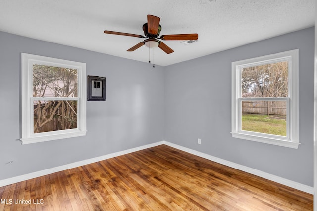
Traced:
<svg viewBox="0 0 317 211">
<path fill-rule="evenodd" d="M 260 177 L 262 177 L 264 179 L 268 179 L 268 180 L 280 183 L 282 185 L 286 185 L 288 187 L 291 187 L 291 188 L 294 188 L 294 189 L 297 189 L 297 190 L 300 190 L 300 191 L 303 191 L 303 192 L 306 192 L 306 193 L 309 193 L 309 194 L 314 194 L 314 188 L 311 187 L 311 186 L 303 185 L 301 183 L 294 182 L 294 181 L 291 181 L 291 180 L 288 180 L 288 179 L 285 179 L 285 178 L 282 178 L 282 177 L 279 177 L 279 176 L 275 176 L 273 174 L 265 173 L 265 172 L 263 172 L 261 170 L 252 169 L 250 167 L 246 167 L 246 166 L 243 166 L 243 165 L 240 165 L 240 164 L 236 164 L 236 163 L 233 163 L 233 162 L 230 162 L 230 161 L 227 161 L 227 160 L 223 160 L 221 158 L 217 158 L 217 157 L 214 157 L 214 156 L 211 156 L 211 155 L 208 155 L 208 154 L 196 151 L 196 150 L 192 150 L 192 149 L 189 149 L 189 148 L 177 145 L 177 144 L 173 144 L 173 143 L 170 143 L 170 142 L 167 142 L 167 141 L 163 141 L 163 143 L 168 145 L 168 146 L 174 147 L 176 149 L 182 150 L 184 152 L 188 152 L 190 154 L 197 155 L 199 157 L 206 158 L 208 160 L 217 162 L 219 164 L 223 164 L 225 166 L 232 167 L 234 169 L 242 170 L 242 171 L 251 173 L 253 175 L 260 176 Z"/>
</svg>

